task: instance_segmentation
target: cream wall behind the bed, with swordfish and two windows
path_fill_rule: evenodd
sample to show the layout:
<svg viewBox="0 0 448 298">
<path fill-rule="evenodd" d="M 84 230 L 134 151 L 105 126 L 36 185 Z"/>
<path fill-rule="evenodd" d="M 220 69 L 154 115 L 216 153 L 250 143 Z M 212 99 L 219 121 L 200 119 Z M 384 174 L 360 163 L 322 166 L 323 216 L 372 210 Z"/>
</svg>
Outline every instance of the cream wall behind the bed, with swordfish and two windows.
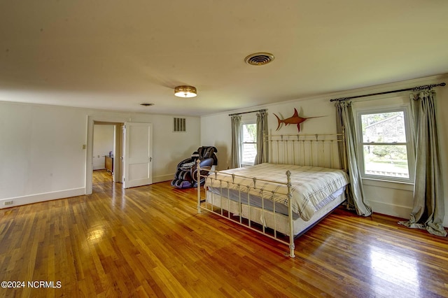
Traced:
<svg viewBox="0 0 448 298">
<path fill-rule="evenodd" d="M 272 133 L 277 134 L 297 134 L 297 127 L 293 125 L 283 126 L 278 132 L 275 132 L 277 120 L 274 116 L 279 115 L 282 118 L 288 118 L 293 115 L 294 108 L 297 108 L 301 117 L 323 116 L 322 118 L 309 119 L 302 123 L 301 133 L 303 134 L 323 134 L 335 133 L 336 113 L 335 105 L 330 99 L 339 97 L 350 97 L 360 94 L 370 94 L 384 92 L 389 90 L 400 90 L 409 87 L 435 84 L 441 82 L 448 83 L 448 76 L 435 76 L 431 78 L 422 78 L 419 80 L 408 80 L 400 83 L 391 83 L 380 86 L 367 87 L 359 90 L 349 90 L 333 94 L 323 94 L 319 97 L 310 97 L 296 99 L 279 104 L 267 106 L 256 106 L 253 108 L 232 111 L 232 113 L 258 110 L 267 108 L 268 127 Z M 440 146 L 442 153 L 442 169 L 445 180 L 448 179 L 448 119 L 443 117 L 442 111 L 448 111 L 448 87 L 437 87 L 437 120 L 440 130 Z M 388 94 L 377 97 L 370 97 L 369 100 L 385 99 L 387 97 L 409 97 L 409 92 L 400 94 Z M 231 129 L 229 113 L 217 115 L 207 115 L 201 118 L 201 140 L 210 146 L 218 148 L 218 167 L 217 169 L 228 169 L 230 166 L 230 147 L 231 147 Z M 399 218 L 409 218 L 412 211 L 412 185 L 403 183 L 384 183 L 377 180 L 363 180 L 365 194 L 370 202 L 374 212 L 397 216 Z M 448 226 L 448 186 L 445 184 L 445 219 L 444 226 Z"/>
</svg>

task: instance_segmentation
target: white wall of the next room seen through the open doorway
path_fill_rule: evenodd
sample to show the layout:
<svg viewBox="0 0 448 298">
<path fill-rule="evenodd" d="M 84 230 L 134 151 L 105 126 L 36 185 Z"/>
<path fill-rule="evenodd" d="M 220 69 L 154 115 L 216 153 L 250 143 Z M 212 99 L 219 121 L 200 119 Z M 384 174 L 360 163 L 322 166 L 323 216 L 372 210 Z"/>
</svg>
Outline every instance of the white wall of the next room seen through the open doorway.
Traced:
<svg viewBox="0 0 448 298">
<path fill-rule="evenodd" d="M 105 169 L 104 155 L 113 154 L 113 125 L 94 125 L 93 127 L 93 169 Z"/>
</svg>

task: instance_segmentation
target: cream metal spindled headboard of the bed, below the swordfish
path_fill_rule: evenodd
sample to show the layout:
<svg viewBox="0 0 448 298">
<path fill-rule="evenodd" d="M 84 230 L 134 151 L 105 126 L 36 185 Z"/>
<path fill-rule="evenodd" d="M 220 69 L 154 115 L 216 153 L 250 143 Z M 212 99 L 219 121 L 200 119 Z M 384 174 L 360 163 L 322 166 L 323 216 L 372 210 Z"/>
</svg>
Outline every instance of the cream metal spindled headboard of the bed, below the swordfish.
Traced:
<svg viewBox="0 0 448 298">
<path fill-rule="evenodd" d="M 265 136 L 267 162 L 346 169 L 344 134 L 269 134 Z M 340 149 L 339 149 L 340 148 Z"/>
</svg>

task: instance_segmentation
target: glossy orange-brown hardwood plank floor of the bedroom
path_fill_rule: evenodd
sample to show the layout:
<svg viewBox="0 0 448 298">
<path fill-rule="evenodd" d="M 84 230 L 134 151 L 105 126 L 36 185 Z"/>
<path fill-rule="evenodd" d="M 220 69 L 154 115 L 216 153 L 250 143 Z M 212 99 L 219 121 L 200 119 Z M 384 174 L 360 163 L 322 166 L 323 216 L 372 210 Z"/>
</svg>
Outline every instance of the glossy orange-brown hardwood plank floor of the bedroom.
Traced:
<svg viewBox="0 0 448 298">
<path fill-rule="evenodd" d="M 0 281 L 25 288 L 0 297 L 448 297 L 448 239 L 397 218 L 337 209 L 290 258 L 197 214 L 195 194 L 169 182 L 122 190 L 95 171 L 92 195 L 1 209 Z"/>
</svg>

